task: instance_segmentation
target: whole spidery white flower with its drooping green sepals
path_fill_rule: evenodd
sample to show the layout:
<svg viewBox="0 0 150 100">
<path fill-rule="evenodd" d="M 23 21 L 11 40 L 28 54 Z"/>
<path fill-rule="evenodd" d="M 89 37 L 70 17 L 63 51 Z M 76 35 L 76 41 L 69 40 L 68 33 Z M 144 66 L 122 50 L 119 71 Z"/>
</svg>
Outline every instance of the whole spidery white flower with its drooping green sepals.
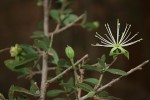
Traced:
<svg viewBox="0 0 150 100">
<path fill-rule="evenodd" d="M 95 45 L 92 44 L 92 46 L 112 47 L 109 53 L 110 56 L 116 57 L 120 54 L 123 54 L 129 59 L 129 52 L 125 50 L 123 47 L 140 42 L 142 39 L 132 41 L 138 35 L 138 33 L 130 37 L 131 32 L 129 32 L 129 29 L 131 25 L 126 24 L 125 30 L 123 31 L 122 34 L 120 34 L 119 20 L 117 20 L 117 37 L 116 38 L 113 36 L 111 32 L 109 24 L 105 24 L 105 27 L 108 32 L 108 34 L 105 34 L 106 38 L 102 37 L 96 32 L 95 37 L 101 40 L 101 44 L 96 43 Z"/>
</svg>

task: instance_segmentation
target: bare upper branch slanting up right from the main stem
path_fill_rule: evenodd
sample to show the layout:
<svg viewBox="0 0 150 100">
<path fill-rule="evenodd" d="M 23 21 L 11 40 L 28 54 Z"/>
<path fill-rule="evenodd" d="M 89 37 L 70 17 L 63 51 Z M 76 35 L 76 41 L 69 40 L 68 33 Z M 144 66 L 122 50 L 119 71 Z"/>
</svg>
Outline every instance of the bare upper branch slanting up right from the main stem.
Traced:
<svg viewBox="0 0 150 100">
<path fill-rule="evenodd" d="M 68 28 L 72 27 L 76 22 L 78 22 L 79 20 L 83 19 L 84 16 L 85 16 L 85 14 L 82 14 L 82 15 L 80 15 L 74 22 L 68 24 L 67 26 L 62 27 L 62 28 L 60 28 L 60 29 L 57 30 L 57 31 L 50 32 L 50 33 L 49 33 L 49 36 L 55 35 L 55 34 L 58 34 L 58 33 L 60 33 L 60 32 L 63 32 L 64 30 L 67 30 Z"/>
</svg>

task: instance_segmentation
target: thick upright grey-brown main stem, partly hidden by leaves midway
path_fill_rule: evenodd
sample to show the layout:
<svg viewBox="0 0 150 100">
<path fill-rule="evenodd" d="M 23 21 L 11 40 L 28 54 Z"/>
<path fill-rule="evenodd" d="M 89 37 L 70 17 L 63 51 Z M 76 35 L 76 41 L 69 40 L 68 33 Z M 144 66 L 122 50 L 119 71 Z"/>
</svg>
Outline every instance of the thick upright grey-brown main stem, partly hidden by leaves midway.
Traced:
<svg viewBox="0 0 150 100">
<path fill-rule="evenodd" d="M 48 15 L 48 0 L 43 1 L 43 12 L 44 12 L 44 35 L 48 36 L 49 33 L 49 15 Z M 41 77 L 41 95 L 40 100 L 45 100 L 46 94 L 46 81 L 47 81 L 47 54 L 45 51 L 42 53 L 42 77 Z"/>
</svg>

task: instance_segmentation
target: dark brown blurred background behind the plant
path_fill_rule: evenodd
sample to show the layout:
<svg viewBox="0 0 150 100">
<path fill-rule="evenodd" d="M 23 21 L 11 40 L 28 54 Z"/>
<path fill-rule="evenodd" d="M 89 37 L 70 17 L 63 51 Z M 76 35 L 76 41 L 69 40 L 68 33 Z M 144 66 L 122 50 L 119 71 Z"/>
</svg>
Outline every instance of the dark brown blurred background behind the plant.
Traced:
<svg viewBox="0 0 150 100">
<path fill-rule="evenodd" d="M 54 0 L 53 0 L 54 1 Z M 119 57 L 113 65 L 115 68 L 129 70 L 150 58 L 150 6 L 149 0 L 73 0 L 71 8 L 78 15 L 87 11 L 88 20 L 97 20 L 100 27 L 97 30 L 86 31 L 80 27 L 55 36 L 54 48 L 64 57 L 64 48 L 70 45 L 75 49 L 76 58 L 89 54 L 91 62 L 97 60 L 103 53 L 107 54 L 110 48 L 92 47 L 98 40 L 95 32 L 105 34 L 105 23 L 109 23 L 113 33 L 116 32 L 117 19 L 120 20 L 122 31 L 126 23 L 132 25 L 131 32 L 140 32 L 138 38 L 144 40 L 126 48 L 130 52 L 130 60 Z M 42 7 L 36 5 L 36 0 L 0 0 L 0 49 L 10 47 L 16 43 L 32 44 L 29 36 L 37 30 L 39 21 L 42 20 Z M 53 25 L 50 26 L 50 28 Z M 3 61 L 9 58 L 8 52 L 0 54 L 0 92 L 7 97 L 11 84 L 28 86 L 25 79 L 17 79 L 16 73 L 8 70 Z M 112 58 L 108 58 L 110 63 Z M 96 76 L 87 73 L 87 76 Z M 112 75 L 106 75 L 110 81 Z M 116 77 L 116 76 L 115 76 Z M 21 84 L 21 85 L 20 85 Z M 134 72 L 107 89 L 111 95 L 123 100 L 150 100 L 150 64 L 143 70 Z"/>
</svg>

